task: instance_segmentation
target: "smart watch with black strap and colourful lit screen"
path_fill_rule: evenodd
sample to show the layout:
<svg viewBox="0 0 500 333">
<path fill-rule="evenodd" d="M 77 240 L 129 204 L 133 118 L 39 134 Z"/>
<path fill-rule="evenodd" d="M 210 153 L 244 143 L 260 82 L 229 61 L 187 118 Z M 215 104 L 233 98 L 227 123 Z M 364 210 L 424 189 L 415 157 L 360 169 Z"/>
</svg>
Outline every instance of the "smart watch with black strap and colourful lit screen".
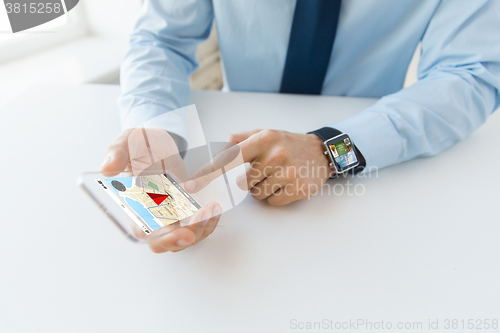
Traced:
<svg viewBox="0 0 500 333">
<path fill-rule="evenodd" d="M 348 171 L 358 173 L 366 166 L 365 158 L 347 133 L 342 133 L 335 128 L 323 127 L 308 134 L 315 134 L 323 140 L 324 154 L 335 173 L 332 178 Z"/>
</svg>

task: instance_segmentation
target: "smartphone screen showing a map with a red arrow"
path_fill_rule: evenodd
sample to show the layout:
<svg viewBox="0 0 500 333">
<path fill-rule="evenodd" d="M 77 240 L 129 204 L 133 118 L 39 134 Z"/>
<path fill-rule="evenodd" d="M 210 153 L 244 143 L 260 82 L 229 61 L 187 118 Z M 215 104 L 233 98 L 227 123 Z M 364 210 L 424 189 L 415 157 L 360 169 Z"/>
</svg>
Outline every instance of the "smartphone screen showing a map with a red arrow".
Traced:
<svg viewBox="0 0 500 333">
<path fill-rule="evenodd" d="M 102 181 L 96 179 L 98 183 Z M 117 194 L 150 231 L 178 222 L 201 208 L 177 181 L 168 174 L 140 177 L 105 178 L 112 196 Z M 113 193 L 114 192 L 114 193 Z M 122 204 L 124 209 L 127 209 Z M 130 214 L 129 214 L 130 215 Z M 150 234 L 144 226 L 143 231 Z"/>
</svg>

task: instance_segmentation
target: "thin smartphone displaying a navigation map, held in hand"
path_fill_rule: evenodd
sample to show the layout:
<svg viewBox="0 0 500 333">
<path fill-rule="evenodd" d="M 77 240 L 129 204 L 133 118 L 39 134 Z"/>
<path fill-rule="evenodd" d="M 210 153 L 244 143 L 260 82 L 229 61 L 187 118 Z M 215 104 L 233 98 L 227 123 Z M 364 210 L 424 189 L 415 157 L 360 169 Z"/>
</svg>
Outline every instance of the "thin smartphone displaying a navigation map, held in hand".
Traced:
<svg viewBox="0 0 500 333">
<path fill-rule="evenodd" d="M 180 226 L 203 204 L 172 174 L 106 177 L 84 174 L 79 184 L 135 241 L 148 242 Z"/>
</svg>

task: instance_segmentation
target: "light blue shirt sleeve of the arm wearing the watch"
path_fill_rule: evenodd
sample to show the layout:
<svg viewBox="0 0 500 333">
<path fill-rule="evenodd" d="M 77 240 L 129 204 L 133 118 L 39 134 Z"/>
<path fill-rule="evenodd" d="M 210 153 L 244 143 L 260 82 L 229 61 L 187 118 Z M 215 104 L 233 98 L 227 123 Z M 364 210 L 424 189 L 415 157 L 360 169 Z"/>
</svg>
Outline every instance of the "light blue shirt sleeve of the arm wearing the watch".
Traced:
<svg viewBox="0 0 500 333">
<path fill-rule="evenodd" d="M 422 37 L 419 81 L 333 124 L 367 166 L 432 156 L 464 139 L 500 105 L 500 1 L 443 0 Z"/>
</svg>

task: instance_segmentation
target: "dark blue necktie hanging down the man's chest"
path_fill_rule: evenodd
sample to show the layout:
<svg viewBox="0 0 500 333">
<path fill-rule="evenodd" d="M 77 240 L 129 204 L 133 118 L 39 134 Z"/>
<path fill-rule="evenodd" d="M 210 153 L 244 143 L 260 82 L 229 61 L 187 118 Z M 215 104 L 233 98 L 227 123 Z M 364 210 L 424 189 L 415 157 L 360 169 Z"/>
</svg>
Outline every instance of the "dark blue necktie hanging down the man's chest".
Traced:
<svg viewBox="0 0 500 333">
<path fill-rule="evenodd" d="M 340 3 L 341 0 L 297 0 L 280 92 L 321 94 Z"/>
</svg>

